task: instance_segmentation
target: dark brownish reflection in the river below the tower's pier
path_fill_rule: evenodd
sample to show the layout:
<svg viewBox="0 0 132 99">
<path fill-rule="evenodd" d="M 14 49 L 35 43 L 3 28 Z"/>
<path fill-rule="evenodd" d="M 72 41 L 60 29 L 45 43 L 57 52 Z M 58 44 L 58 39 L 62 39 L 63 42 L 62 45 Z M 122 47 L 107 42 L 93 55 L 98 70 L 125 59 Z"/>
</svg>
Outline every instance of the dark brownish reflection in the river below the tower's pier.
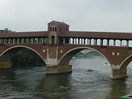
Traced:
<svg viewBox="0 0 132 99">
<path fill-rule="evenodd" d="M 70 88 L 70 75 L 46 75 L 36 87 L 36 96 L 43 96 L 44 99 L 69 99 Z"/>
</svg>

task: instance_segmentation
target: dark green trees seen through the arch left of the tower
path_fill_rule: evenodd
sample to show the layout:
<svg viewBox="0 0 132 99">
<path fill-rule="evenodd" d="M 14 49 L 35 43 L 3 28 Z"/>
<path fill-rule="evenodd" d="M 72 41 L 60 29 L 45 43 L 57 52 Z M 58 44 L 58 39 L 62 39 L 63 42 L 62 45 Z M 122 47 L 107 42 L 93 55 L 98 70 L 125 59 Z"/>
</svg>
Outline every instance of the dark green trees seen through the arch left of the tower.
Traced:
<svg viewBox="0 0 132 99">
<path fill-rule="evenodd" d="M 44 65 L 43 60 L 33 51 L 23 48 L 11 58 L 12 67 Z"/>
</svg>

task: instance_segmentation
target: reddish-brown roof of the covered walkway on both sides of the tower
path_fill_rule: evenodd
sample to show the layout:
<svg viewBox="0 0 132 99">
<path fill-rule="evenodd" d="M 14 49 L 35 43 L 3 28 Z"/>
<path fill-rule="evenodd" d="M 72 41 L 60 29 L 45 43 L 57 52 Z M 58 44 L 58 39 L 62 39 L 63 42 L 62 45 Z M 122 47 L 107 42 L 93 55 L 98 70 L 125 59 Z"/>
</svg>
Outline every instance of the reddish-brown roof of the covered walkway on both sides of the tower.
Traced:
<svg viewBox="0 0 132 99">
<path fill-rule="evenodd" d="M 48 31 L 36 32 L 11 32 L 0 33 L 0 38 L 17 38 L 17 37 L 47 37 Z M 85 31 L 68 31 L 59 34 L 59 37 L 74 38 L 99 38 L 99 39 L 132 39 L 132 33 L 127 32 L 85 32 Z"/>
</svg>

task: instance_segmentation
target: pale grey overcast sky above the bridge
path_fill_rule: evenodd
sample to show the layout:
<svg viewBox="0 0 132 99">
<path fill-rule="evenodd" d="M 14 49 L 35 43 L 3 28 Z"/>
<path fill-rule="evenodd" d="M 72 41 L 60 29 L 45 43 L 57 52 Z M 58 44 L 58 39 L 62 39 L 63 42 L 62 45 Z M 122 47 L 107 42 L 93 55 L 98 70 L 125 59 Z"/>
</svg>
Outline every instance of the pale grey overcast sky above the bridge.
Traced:
<svg viewBox="0 0 132 99">
<path fill-rule="evenodd" d="M 132 0 L 0 0 L 0 29 L 47 31 L 52 20 L 70 31 L 132 32 Z"/>
</svg>

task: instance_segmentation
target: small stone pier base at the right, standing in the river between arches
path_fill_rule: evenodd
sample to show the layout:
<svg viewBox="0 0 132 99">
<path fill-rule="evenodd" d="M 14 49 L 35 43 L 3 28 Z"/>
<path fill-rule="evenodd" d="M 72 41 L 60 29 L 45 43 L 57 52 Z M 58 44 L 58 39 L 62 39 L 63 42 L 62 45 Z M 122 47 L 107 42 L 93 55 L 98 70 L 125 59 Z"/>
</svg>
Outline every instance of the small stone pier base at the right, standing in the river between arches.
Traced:
<svg viewBox="0 0 132 99">
<path fill-rule="evenodd" d="M 127 69 L 112 69 L 111 79 L 120 79 L 126 78 L 127 76 Z"/>
</svg>

